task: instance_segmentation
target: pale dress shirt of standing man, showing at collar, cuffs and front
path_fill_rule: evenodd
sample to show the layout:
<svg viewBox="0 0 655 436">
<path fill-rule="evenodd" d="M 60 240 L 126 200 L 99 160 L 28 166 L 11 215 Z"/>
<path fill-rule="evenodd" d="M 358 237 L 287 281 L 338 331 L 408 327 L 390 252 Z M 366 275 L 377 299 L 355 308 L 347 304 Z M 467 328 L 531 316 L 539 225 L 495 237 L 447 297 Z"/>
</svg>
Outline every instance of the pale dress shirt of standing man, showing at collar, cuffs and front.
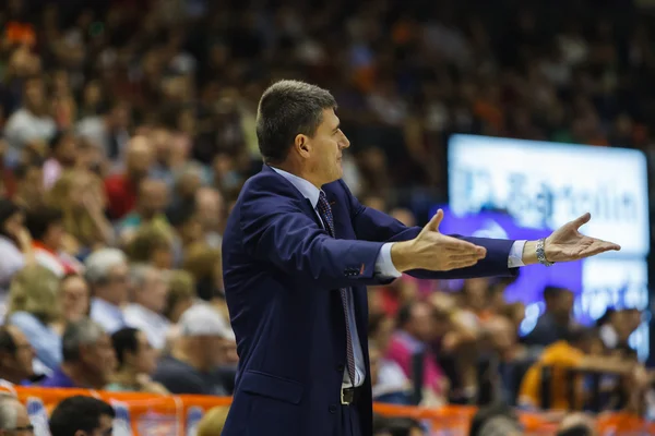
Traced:
<svg viewBox="0 0 655 436">
<path fill-rule="evenodd" d="M 279 175 L 284 177 L 288 180 L 301 194 L 305 198 L 309 199 L 317 216 L 323 222 L 321 218 L 321 214 L 319 214 L 317 209 L 317 205 L 319 204 L 319 196 L 321 195 L 321 191 L 314 186 L 311 182 L 299 178 L 298 175 L 291 174 L 290 172 L 281 170 L 278 168 L 271 167 L 275 172 Z M 324 227 L 324 225 L 323 225 Z M 398 271 L 393 262 L 391 261 L 391 246 L 393 242 L 388 242 L 382 245 L 380 250 L 380 254 L 378 254 L 378 258 L 376 259 L 376 275 L 380 277 L 401 277 L 402 272 Z M 508 258 L 508 267 L 515 268 L 523 266 L 523 246 L 525 245 L 525 241 L 516 241 L 512 244 L 510 249 L 510 256 Z M 350 311 L 348 312 L 348 323 L 350 326 L 350 335 L 352 335 L 352 343 L 353 343 L 353 354 L 355 356 L 355 383 L 350 382 L 350 377 L 348 375 L 348 371 L 344 371 L 344 383 L 343 387 L 352 387 L 352 386 L 361 386 L 366 378 L 366 365 L 364 362 L 364 352 L 361 350 L 361 343 L 359 342 L 359 336 L 357 334 L 357 322 L 355 319 L 355 311 L 353 310 L 353 293 L 348 292 L 348 300 Z"/>
</svg>

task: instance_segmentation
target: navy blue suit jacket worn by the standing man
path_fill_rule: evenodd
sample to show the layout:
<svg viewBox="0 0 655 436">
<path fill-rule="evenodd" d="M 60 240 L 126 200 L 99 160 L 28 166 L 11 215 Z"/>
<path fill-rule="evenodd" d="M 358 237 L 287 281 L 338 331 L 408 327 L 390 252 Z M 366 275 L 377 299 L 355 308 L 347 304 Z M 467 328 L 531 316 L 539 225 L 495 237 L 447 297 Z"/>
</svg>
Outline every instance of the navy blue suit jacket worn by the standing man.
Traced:
<svg viewBox="0 0 655 436">
<path fill-rule="evenodd" d="M 413 239 L 420 228 L 406 228 L 362 206 L 341 180 L 323 191 L 337 239 L 323 230 L 309 201 L 266 166 L 248 180 L 227 221 L 225 294 L 240 362 L 223 435 L 341 434 L 346 329 L 336 290 L 344 287 L 353 289 L 367 366 L 365 393 L 356 407 L 362 434 L 372 434 L 366 286 L 390 281 L 374 275 L 382 244 Z M 410 274 L 432 279 L 512 274 L 513 241 L 467 240 L 487 249 L 487 257 L 474 267 Z"/>
</svg>

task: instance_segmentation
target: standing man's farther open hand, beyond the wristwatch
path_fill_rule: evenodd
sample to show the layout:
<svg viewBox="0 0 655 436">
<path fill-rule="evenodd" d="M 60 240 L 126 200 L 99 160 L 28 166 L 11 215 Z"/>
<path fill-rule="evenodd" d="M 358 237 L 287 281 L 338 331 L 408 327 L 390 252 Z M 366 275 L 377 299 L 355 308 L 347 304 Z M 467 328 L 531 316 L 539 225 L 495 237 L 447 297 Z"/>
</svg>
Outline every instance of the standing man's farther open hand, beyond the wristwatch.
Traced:
<svg viewBox="0 0 655 436">
<path fill-rule="evenodd" d="M 585 237 L 580 228 L 590 221 L 587 213 L 573 221 L 567 222 L 546 239 L 546 258 L 549 262 L 571 262 L 595 256 L 621 247 L 612 242 Z"/>
</svg>

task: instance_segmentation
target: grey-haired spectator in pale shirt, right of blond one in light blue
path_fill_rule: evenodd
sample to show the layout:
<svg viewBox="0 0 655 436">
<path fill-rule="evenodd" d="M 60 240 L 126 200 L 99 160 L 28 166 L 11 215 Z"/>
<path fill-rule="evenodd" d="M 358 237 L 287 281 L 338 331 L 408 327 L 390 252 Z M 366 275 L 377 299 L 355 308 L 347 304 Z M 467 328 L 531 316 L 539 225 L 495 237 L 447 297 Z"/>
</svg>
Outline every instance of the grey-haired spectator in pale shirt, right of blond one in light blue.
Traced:
<svg viewBox="0 0 655 436">
<path fill-rule="evenodd" d="M 102 249 L 85 262 L 91 287 L 91 318 L 112 334 L 126 326 L 122 305 L 128 302 L 130 268 L 128 258 L 117 249 Z"/>
</svg>

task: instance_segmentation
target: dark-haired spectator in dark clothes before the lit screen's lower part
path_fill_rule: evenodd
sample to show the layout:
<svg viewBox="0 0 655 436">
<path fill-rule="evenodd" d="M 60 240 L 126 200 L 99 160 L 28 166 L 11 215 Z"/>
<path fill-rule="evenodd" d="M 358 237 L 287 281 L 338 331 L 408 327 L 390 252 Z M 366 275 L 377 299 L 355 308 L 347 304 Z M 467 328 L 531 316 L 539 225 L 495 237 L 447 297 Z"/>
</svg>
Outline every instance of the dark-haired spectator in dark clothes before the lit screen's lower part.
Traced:
<svg viewBox="0 0 655 436">
<path fill-rule="evenodd" d="M 572 318 L 573 292 L 565 288 L 548 286 L 544 289 L 544 301 L 546 311 L 524 339 L 528 346 L 550 346 L 564 339 L 575 326 Z"/>
</svg>

